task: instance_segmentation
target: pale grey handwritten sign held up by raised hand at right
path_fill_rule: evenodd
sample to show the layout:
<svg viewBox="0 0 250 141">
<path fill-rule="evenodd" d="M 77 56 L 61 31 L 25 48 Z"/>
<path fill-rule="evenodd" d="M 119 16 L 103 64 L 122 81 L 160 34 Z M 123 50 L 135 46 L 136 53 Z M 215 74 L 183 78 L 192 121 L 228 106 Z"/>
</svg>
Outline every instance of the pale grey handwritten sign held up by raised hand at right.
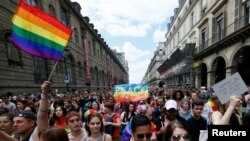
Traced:
<svg viewBox="0 0 250 141">
<path fill-rule="evenodd" d="M 238 72 L 215 84 L 212 88 L 222 104 L 226 103 L 230 96 L 240 96 L 248 91 L 246 84 Z"/>
</svg>

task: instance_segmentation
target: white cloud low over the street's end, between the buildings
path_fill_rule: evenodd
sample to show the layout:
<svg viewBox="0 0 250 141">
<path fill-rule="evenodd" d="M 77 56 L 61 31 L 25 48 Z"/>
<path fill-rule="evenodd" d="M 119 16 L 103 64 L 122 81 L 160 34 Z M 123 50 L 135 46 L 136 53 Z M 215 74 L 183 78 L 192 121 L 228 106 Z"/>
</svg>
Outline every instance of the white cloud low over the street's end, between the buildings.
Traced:
<svg viewBox="0 0 250 141">
<path fill-rule="evenodd" d="M 125 58 L 129 62 L 130 83 L 140 83 L 150 62 L 148 58 L 150 58 L 151 52 L 149 50 L 141 50 L 131 42 L 125 42 L 121 47 L 113 46 L 112 48 L 118 52 L 125 52 Z"/>
</svg>

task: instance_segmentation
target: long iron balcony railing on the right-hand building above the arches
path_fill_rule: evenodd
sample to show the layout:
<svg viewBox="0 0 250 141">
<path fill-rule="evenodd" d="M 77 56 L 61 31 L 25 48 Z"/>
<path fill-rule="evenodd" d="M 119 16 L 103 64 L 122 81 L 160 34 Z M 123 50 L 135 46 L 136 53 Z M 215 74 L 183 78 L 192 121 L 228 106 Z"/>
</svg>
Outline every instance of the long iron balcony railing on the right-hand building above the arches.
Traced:
<svg viewBox="0 0 250 141">
<path fill-rule="evenodd" d="M 235 20 L 232 24 L 227 26 L 224 30 L 221 30 L 221 31 L 217 32 L 216 34 L 212 35 L 212 37 L 209 38 L 208 40 L 206 40 L 205 42 L 201 42 L 199 47 L 196 49 L 195 54 L 202 52 L 203 50 L 214 45 L 215 43 L 219 42 L 220 40 L 222 40 L 222 39 L 228 37 L 229 35 L 239 31 L 243 27 L 247 26 L 249 23 L 250 23 L 249 15 L 245 15 L 245 16 L 240 17 L 238 20 Z"/>
</svg>

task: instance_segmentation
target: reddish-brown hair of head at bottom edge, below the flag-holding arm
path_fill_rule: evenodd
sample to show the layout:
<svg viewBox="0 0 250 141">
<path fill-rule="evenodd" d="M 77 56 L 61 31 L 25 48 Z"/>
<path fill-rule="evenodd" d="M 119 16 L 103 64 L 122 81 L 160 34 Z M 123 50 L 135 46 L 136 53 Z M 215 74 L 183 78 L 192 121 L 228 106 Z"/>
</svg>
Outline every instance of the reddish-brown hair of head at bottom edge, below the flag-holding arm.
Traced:
<svg viewBox="0 0 250 141">
<path fill-rule="evenodd" d="M 52 127 L 39 134 L 44 141 L 69 141 L 65 129 Z"/>
</svg>

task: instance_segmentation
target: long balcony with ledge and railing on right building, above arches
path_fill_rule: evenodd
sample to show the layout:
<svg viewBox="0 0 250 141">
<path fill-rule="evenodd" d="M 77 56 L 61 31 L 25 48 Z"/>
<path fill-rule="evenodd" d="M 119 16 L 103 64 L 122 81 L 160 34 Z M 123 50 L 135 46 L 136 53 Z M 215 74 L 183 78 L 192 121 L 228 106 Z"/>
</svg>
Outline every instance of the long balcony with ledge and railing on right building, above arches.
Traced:
<svg viewBox="0 0 250 141">
<path fill-rule="evenodd" d="M 210 39 L 200 43 L 196 48 L 194 60 L 209 56 L 237 42 L 244 42 L 250 36 L 249 15 L 240 17 L 224 30 L 213 35 Z"/>
</svg>

